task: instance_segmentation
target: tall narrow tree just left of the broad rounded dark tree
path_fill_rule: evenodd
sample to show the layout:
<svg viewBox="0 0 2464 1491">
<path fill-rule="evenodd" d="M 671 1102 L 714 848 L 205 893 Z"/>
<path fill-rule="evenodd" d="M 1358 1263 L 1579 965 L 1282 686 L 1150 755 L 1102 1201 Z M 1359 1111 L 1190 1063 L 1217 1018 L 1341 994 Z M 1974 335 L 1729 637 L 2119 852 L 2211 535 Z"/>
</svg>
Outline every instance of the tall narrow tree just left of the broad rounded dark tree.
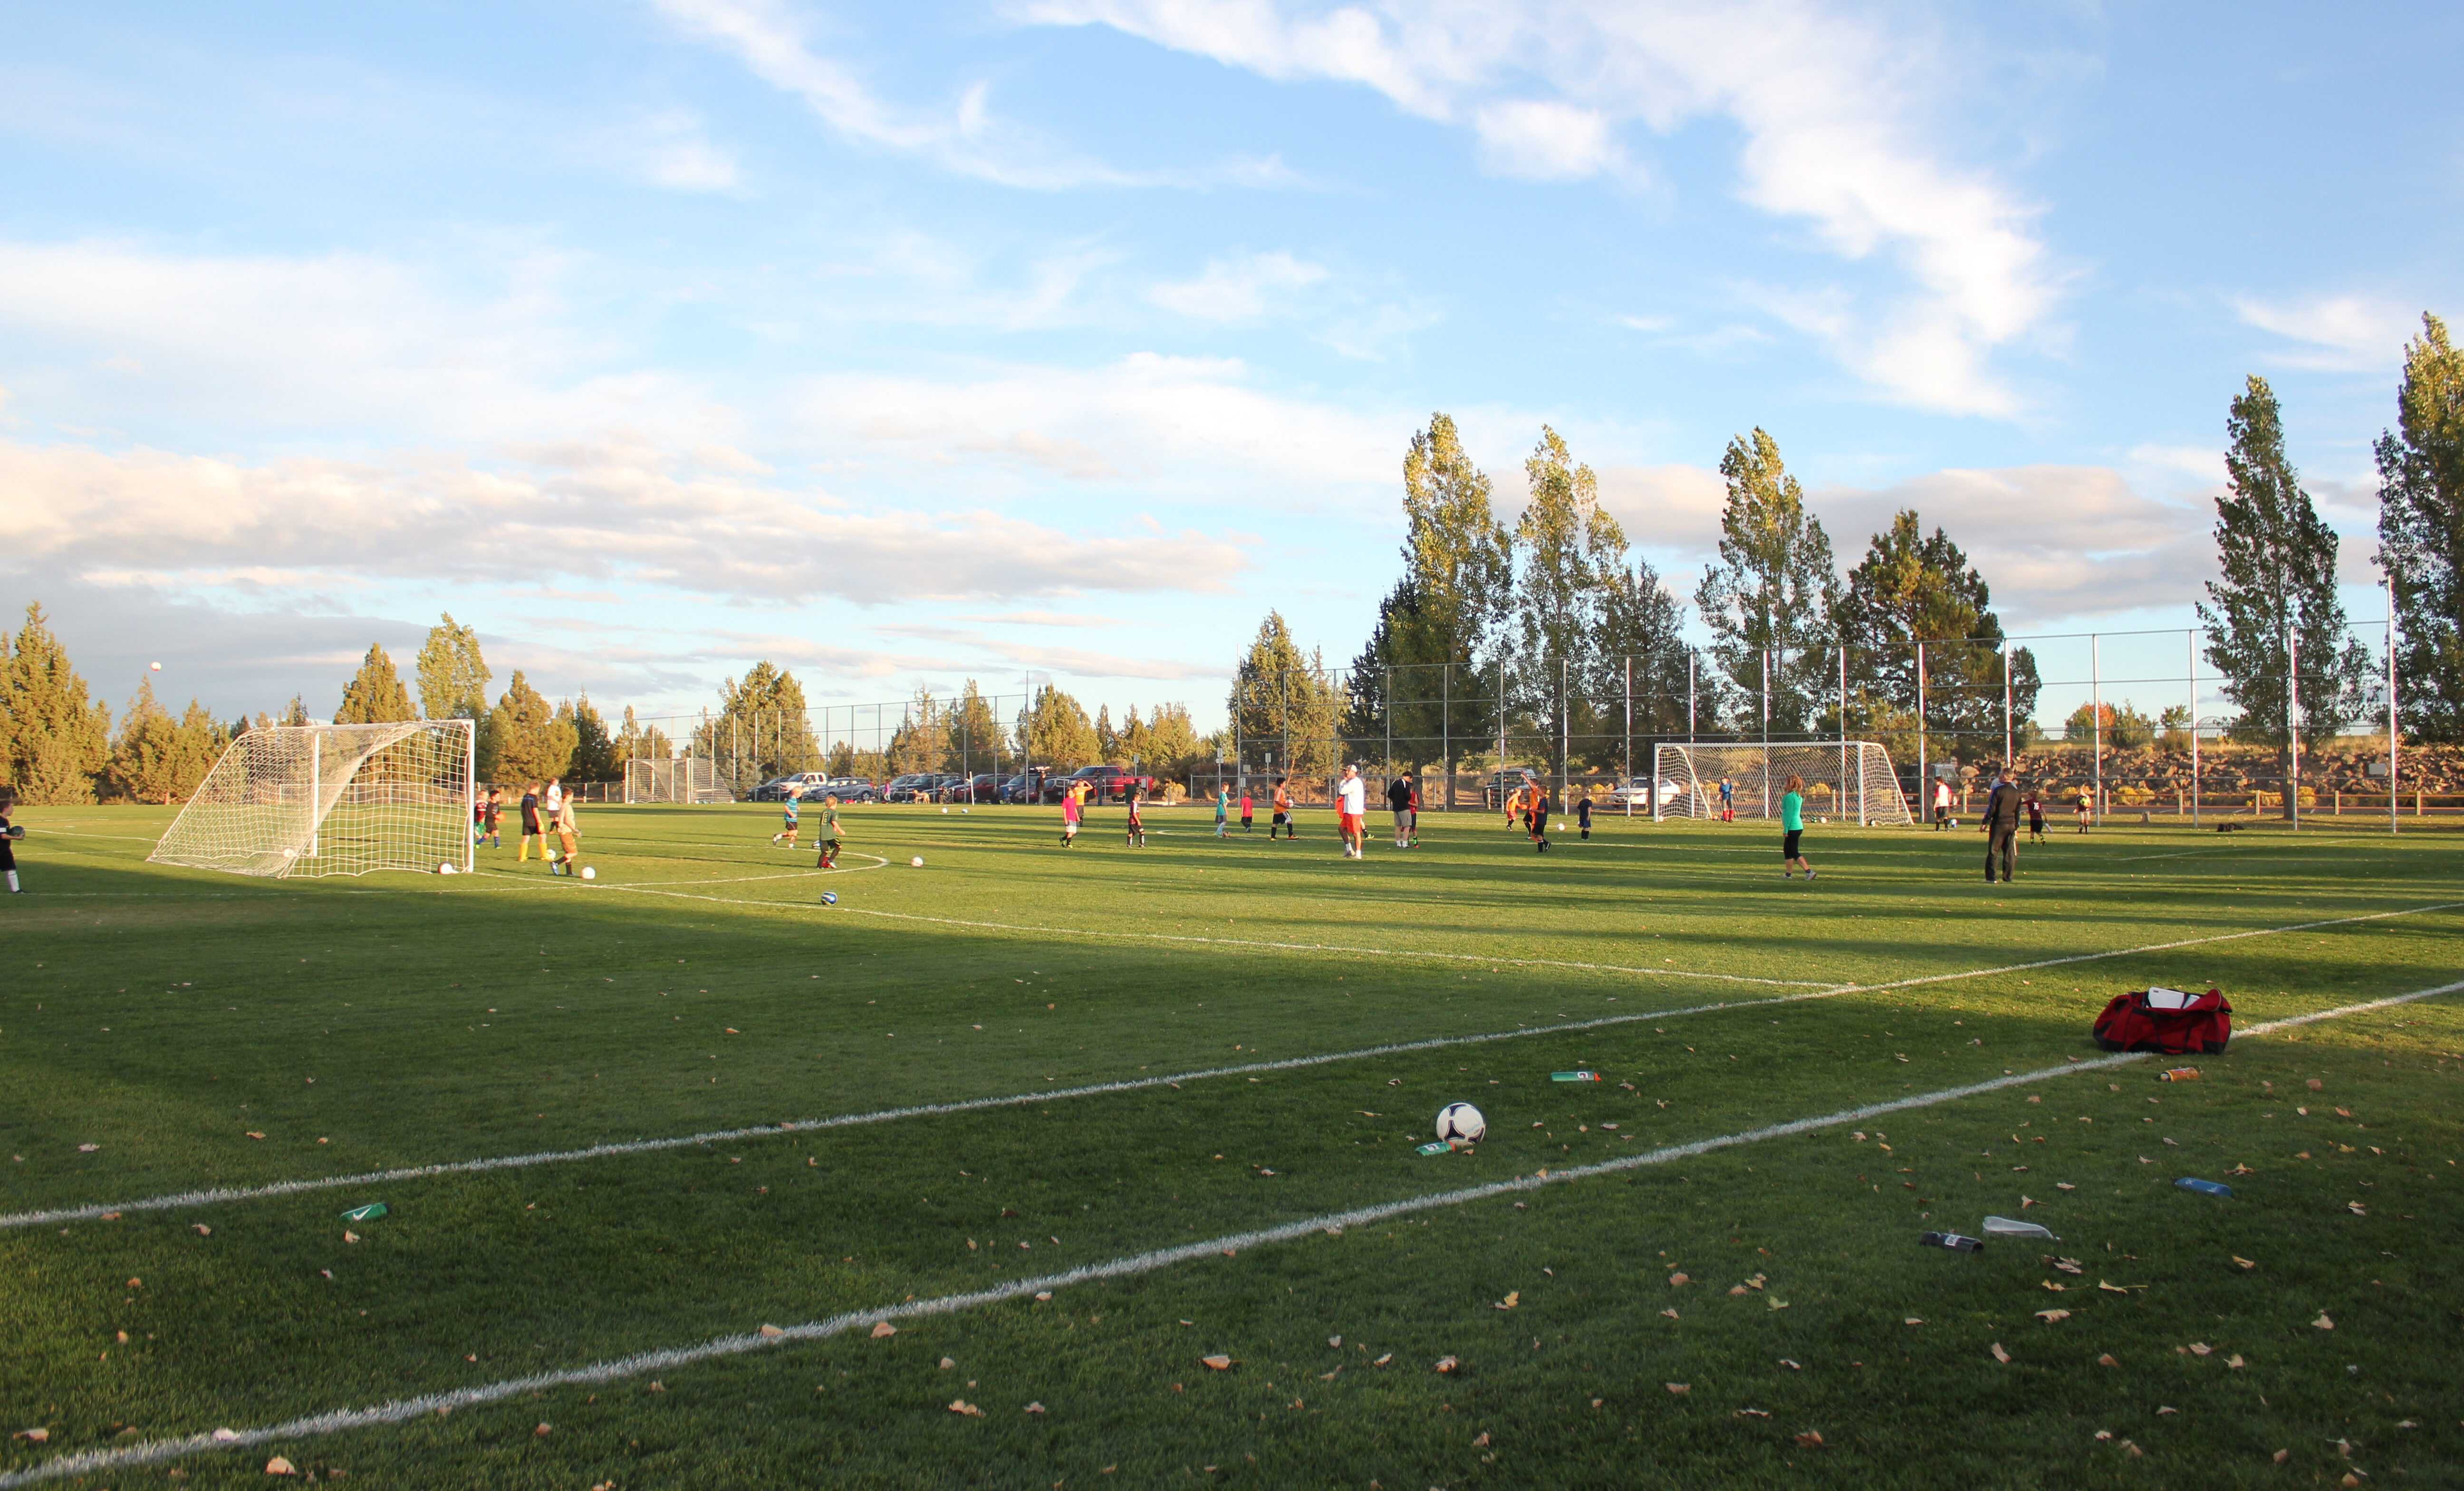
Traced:
<svg viewBox="0 0 2464 1491">
<path fill-rule="evenodd" d="M 1712 658 L 1745 695 L 1747 734 L 1762 727 L 1767 668 L 1772 732 L 1799 734 L 1814 725 L 1828 693 L 1831 535 L 1806 513 L 1804 488 L 1762 429 L 1727 444 L 1720 476 L 1727 478 L 1720 562 L 1703 569 L 1695 606 L 1712 633 Z"/>
</svg>

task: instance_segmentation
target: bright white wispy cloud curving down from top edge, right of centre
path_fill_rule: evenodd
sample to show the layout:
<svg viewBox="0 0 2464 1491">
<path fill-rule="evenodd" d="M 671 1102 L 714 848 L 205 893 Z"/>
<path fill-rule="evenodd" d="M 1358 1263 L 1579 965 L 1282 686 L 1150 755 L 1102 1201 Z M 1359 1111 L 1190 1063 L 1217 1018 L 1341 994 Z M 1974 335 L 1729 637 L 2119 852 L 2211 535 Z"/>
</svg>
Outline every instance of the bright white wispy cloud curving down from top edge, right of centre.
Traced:
<svg viewBox="0 0 2464 1491">
<path fill-rule="evenodd" d="M 1882 397 L 2011 414 L 1996 347 L 2045 330 L 2060 274 L 2035 207 L 1942 148 L 1932 113 L 1966 86 L 1922 20 L 1897 25 L 1816 0 L 1624 5 L 1619 0 L 1027 0 L 1052 25 L 1111 25 L 1271 79 L 1335 79 L 1469 126 L 1503 175 L 1574 180 L 1631 170 L 1619 128 L 1656 133 L 1720 116 L 1745 133 L 1740 195 L 1811 224 L 1836 256 L 1890 256 L 1910 291 L 1841 296 L 1806 325 Z M 1887 15 L 1887 12 L 1885 12 Z"/>
</svg>

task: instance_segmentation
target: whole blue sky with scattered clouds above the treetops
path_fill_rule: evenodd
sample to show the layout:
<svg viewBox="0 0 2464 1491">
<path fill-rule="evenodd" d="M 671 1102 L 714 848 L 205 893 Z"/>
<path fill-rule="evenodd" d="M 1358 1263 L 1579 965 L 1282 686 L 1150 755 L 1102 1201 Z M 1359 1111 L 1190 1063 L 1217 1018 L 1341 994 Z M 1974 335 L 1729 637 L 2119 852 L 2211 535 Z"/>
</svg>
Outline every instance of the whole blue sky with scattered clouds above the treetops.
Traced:
<svg viewBox="0 0 2464 1491">
<path fill-rule="evenodd" d="M 1680 596 L 1769 429 L 2016 631 L 2181 626 L 2225 404 L 2368 444 L 2464 308 L 2464 12 L 0 5 L 0 601 L 113 700 L 333 707 L 439 611 L 685 710 L 1340 663 L 1451 412 Z M 1409 20 L 1409 25 L 1407 25 Z M 2173 643 L 2166 643 L 2173 646 Z"/>
</svg>

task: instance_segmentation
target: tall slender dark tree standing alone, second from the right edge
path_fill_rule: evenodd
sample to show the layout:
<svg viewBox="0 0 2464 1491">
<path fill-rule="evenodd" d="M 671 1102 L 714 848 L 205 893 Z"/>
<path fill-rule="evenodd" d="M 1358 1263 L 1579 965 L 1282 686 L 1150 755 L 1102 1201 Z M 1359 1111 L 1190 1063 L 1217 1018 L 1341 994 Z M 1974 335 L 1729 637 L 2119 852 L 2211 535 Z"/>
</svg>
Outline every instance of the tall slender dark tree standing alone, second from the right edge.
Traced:
<svg viewBox="0 0 2464 1491">
<path fill-rule="evenodd" d="M 2336 530 L 2328 527 L 2284 456 L 2277 394 L 2252 375 L 2225 419 L 2225 485 L 2215 500 L 2220 579 L 2208 582 L 2198 619 L 2208 663 L 2225 697 L 2242 707 L 2235 734 L 2289 757 L 2289 653 L 2301 663 L 2301 739 L 2333 739 L 2363 707 L 2370 658 L 2346 633 L 2336 596 Z M 2289 766 L 2289 759 L 2287 759 Z M 2287 794 L 2284 811 L 2294 811 Z"/>
</svg>

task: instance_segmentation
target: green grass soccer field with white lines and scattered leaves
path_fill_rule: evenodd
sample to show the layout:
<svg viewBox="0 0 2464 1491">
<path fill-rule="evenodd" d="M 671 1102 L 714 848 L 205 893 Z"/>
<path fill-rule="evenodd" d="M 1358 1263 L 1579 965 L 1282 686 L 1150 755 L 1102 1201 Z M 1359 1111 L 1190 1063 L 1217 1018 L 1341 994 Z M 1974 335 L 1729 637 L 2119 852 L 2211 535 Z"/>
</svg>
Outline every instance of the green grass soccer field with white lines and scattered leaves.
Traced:
<svg viewBox="0 0 2464 1491">
<path fill-rule="evenodd" d="M 2459 1001 L 2247 1033 L 2454 988 L 2452 835 L 1988 887 L 1814 828 L 1806 885 L 1762 826 L 865 808 L 823 875 L 596 808 L 584 885 L 168 818 L 20 816 L 0 1486 L 2464 1484 Z M 2198 1082 L 2087 1040 L 2151 981 L 2235 1003 Z M 1988 1213 L 2060 1242 L 1917 1245 Z"/>
</svg>

